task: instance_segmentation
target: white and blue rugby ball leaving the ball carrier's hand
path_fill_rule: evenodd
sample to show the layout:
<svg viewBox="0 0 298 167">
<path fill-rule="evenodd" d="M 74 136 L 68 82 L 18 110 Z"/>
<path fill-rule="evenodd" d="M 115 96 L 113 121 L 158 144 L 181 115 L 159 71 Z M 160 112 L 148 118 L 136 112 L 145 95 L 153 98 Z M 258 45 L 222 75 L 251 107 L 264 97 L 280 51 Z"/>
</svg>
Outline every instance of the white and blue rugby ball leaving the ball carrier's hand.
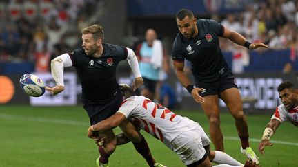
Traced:
<svg viewBox="0 0 298 167">
<path fill-rule="evenodd" d="M 33 97 L 42 96 L 45 93 L 45 84 L 38 76 L 33 74 L 23 74 L 20 78 L 21 89 L 28 95 Z"/>
</svg>

